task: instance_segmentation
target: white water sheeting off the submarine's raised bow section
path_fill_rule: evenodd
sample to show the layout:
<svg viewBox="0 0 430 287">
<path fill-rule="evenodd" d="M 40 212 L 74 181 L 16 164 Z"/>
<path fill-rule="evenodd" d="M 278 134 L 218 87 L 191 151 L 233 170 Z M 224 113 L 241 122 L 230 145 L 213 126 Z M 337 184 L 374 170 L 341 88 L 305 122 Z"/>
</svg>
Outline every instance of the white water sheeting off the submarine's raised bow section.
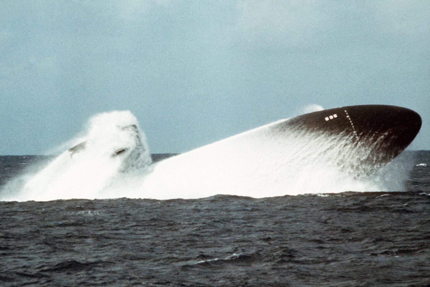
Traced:
<svg viewBox="0 0 430 287">
<path fill-rule="evenodd" d="M 404 179 L 405 170 L 389 164 L 378 172 L 378 158 L 370 159 L 372 147 L 357 143 L 352 134 L 330 135 L 298 127 L 276 131 L 274 127 L 283 121 L 160 162 L 144 179 L 139 196 L 169 199 L 234 194 L 262 198 L 402 189 L 402 181 L 396 181 L 395 186 L 387 182 Z"/>
</svg>

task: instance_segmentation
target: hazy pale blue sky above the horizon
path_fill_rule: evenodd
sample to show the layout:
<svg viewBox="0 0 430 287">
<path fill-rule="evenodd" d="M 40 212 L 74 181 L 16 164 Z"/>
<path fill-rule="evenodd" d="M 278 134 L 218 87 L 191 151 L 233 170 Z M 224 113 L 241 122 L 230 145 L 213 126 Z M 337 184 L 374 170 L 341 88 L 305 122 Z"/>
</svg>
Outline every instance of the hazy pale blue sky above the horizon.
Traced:
<svg viewBox="0 0 430 287">
<path fill-rule="evenodd" d="M 430 1 L 3 1 L 0 154 L 46 154 L 130 110 L 152 153 L 311 105 L 417 111 L 430 150 Z"/>
</svg>

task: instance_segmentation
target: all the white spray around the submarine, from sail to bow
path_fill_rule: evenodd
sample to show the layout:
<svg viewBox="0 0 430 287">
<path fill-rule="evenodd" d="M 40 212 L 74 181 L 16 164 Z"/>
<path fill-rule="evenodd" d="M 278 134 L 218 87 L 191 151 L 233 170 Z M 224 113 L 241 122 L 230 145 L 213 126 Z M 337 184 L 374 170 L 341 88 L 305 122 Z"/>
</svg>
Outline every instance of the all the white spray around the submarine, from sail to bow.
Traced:
<svg viewBox="0 0 430 287">
<path fill-rule="evenodd" d="M 297 128 L 274 132 L 285 120 L 151 164 L 146 137 L 129 111 L 89 120 L 79 151 L 3 187 L 2 201 L 71 198 L 204 198 L 232 194 L 255 198 L 343 191 L 400 191 L 408 163 L 382 169 L 361 164 L 367 146 L 351 135 L 329 136 Z M 117 154 L 118 153 L 118 154 Z M 34 167 L 33 167 L 34 169 Z"/>
</svg>

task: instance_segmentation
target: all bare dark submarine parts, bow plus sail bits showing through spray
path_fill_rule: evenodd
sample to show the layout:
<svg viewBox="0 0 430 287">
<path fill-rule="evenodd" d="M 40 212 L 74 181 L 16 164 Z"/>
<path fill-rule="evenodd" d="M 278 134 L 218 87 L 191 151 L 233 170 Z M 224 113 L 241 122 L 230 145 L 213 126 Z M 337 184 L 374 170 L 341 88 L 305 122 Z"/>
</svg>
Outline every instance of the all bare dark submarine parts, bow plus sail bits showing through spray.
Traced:
<svg viewBox="0 0 430 287">
<path fill-rule="evenodd" d="M 317 136 L 344 137 L 356 149 L 365 149 L 367 156 L 361 158 L 361 164 L 381 167 L 399 155 L 415 139 L 421 123 L 420 115 L 408 108 L 391 105 L 353 105 L 315 111 L 278 121 L 267 127 L 266 135 L 282 137 L 282 134 L 295 131 Z M 120 129 L 131 130 L 137 146 L 139 148 L 143 146 L 136 124 Z M 257 130 L 259 129 L 255 131 Z M 86 141 L 69 148 L 70 156 L 85 149 L 85 146 Z M 117 156 L 128 149 L 118 148 L 111 156 Z"/>
</svg>

